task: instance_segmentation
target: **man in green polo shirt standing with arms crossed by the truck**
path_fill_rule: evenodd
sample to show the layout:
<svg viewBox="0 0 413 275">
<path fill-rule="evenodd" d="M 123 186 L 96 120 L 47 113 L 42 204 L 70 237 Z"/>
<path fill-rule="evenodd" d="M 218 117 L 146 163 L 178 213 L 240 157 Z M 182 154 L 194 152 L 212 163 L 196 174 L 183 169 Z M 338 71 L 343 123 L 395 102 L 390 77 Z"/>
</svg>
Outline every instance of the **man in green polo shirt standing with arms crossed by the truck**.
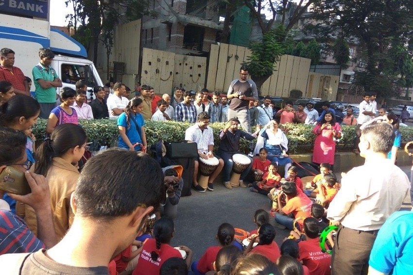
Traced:
<svg viewBox="0 0 413 275">
<path fill-rule="evenodd" d="M 50 48 L 39 49 L 40 62 L 33 67 L 32 74 L 34 93 L 40 104 L 40 117 L 47 119 L 50 112 L 56 107 L 56 88 L 62 87 L 56 71 L 50 66 L 54 58 L 54 53 Z"/>
</svg>

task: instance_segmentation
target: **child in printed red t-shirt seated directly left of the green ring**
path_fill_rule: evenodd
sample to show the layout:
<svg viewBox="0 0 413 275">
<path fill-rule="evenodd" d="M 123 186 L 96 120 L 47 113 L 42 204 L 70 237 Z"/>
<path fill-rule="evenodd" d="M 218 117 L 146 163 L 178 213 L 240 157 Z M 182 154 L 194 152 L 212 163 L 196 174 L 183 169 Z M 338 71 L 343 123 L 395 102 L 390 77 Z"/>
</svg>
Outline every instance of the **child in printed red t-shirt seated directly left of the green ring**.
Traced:
<svg viewBox="0 0 413 275">
<path fill-rule="evenodd" d="M 304 220 L 304 234 L 306 241 L 298 243 L 299 258 L 310 270 L 311 275 L 330 275 L 331 255 L 321 252 L 319 244 L 319 225 L 315 218 Z"/>
</svg>

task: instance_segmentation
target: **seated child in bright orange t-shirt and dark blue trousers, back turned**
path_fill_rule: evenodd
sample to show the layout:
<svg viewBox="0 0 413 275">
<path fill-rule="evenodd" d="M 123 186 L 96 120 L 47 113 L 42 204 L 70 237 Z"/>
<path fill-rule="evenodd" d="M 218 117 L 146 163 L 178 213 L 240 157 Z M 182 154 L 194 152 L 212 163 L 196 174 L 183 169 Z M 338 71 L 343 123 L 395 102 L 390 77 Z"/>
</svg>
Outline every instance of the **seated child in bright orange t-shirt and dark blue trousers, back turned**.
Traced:
<svg viewBox="0 0 413 275">
<path fill-rule="evenodd" d="M 281 194 L 286 194 L 286 205 L 278 208 L 275 215 L 275 227 L 281 229 L 293 229 L 293 221 L 296 218 L 310 217 L 311 204 L 309 197 L 303 192 L 297 192 L 295 182 L 287 181 L 282 185 L 282 191 L 278 194 L 278 205 L 281 206 Z M 293 216 L 293 217 L 291 217 Z M 298 224 L 303 226 L 303 220 L 298 220 Z"/>
</svg>

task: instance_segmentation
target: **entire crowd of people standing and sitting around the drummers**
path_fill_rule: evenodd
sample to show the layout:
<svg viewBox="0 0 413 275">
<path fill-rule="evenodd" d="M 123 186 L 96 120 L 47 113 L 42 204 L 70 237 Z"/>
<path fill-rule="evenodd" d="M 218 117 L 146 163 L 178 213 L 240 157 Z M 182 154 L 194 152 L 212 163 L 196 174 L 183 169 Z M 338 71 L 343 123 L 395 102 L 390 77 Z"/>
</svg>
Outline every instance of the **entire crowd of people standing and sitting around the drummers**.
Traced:
<svg viewBox="0 0 413 275">
<path fill-rule="evenodd" d="M 158 97 L 149 85 L 139 85 L 128 99 L 123 97 L 126 86 L 115 82 L 107 89 L 95 87 L 96 99 L 88 104 L 87 85 L 78 81 L 76 90 L 61 89 L 61 104 L 55 106 L 52 95 L 55 101 L 62 81 L 50 67 L 52 54 L 40 49 L 40 62 L 33 69 L 34 99 L 26 93 L 26 78 L 17 78 L 18 69 L 11 62 L 14 52 L 0 50 L 5 77 L 0 77 L 2 274 L 410 272 L 412 213 L 398 210 L 412 190 L 410 180 L 394 164 L 400 146 L 398 118 L 392 113 L 375 117 L 371 95 L 364 96 L 356 122 L 351 114 L 344 117 L 350 125 L 357 124 L 355 146 L 365 163 L 338 182 L 333 164 L 335 140 L 342 132 L 328 103 L 317 116 L 312 101 L 297 111 L 287 102 L 273 112 L 268 97 L 256 106 L 257 87 L 242 66 L 227 94 L 213 92 L 211 101 L 206 89 L 195 93 L 175 87 L 171 96 Z M 48 122 L 43 142 L 36 145 L 31 128 L 38 117 Z M 78 118 L 104 117 L 117 119 L 118 145 L 91 157 L 79 170 L 88 139 Z M 255 212 L 256 230 L 241 238 L 232 225 L 223 223 L 216 235 L 218 245 L 194 261 L 189 247 L 170 245 L 183 170 L 179 165 L 161 168 L 146 154 L 148 119 L 194 123 L 185 139 L 197 146 L 190 182 L 195 191 L 214 191 L 222 173 L 227 189 L 249 187 L 268 196 L 272 209 Z M 217 145 L 208 126 L 212 122 L 225 122 Z M 279 128 L 292 122 L 315 124 L 313 162 L 320 174 L 308 184 L 297 176 L 298 168 L 287 154 L 287 136 Z M 256 126 L 255 132 L 251 126 Z M 241 138 L 255 144 L 254 159 L 240 151 Z M 206 186 L 201 186 L 198 174 L 209 160 L 216 162 Z M 279 166 L 284 166 L 284 177 L 277 173 Z M 236 167 L 239 173 L 232 172 Z M 331 255 L 319 245 L 328 224 L 338 226 L 335 236 L 327 236 Z M 289 238 L 276 243 L 275 227 L 290 229 Z"/>
</svg>

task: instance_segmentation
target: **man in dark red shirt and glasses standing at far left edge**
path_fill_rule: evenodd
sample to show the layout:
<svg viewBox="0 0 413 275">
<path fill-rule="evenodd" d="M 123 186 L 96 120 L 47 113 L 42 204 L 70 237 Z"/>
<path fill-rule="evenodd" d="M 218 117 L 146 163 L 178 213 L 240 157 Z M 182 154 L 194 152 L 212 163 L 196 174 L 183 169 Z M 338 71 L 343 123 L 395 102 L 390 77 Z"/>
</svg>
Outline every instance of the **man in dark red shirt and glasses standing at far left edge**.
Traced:
<svg viewBox="0 0 413 275">
<path fill-rule="evenodd" d="M 15 93 L 30 96 L 29 83 L 23 72 L 13 66 L 15 64 L 15 52 L 12 49 L 0 50 L 0 81 L 8 81 L 13 85 Z"/>
</svg>

